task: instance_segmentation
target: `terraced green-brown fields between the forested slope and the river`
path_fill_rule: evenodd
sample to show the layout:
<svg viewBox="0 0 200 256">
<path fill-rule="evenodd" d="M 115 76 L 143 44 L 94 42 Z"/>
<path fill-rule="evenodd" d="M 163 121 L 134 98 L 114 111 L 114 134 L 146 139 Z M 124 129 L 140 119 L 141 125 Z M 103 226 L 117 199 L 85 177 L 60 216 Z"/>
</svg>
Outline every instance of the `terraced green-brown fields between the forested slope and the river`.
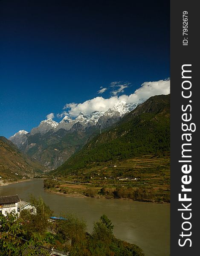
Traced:
<svg viewBox="0 0 200 256">
<path fill-rule="evenodd" d="M 107 163 L 91 163 L 85 170 L 58 177 L 52 192 L 95 198 L 128 198 L 170 202 L 170 155 L 145 155 Z M 52 183 L 56 181 L 53 180 Z M 49 183 L 49 182 L 48 182 Z M 119 190 L 122 193 L 118 193 Z M 118 191 L 118 192 L 116 192 Z"/>
</svg>

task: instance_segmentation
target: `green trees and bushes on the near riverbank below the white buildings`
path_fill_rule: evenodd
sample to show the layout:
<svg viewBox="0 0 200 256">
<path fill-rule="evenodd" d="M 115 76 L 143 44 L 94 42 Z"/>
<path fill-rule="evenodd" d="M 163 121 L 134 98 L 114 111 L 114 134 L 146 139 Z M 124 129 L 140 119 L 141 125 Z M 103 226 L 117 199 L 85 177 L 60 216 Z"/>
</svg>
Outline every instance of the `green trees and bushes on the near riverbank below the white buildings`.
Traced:
<svg viewBox="0 0 200 256">
<path fill-rule="evenodd" d="M 36 214 L 23 210 L 0 214 L 0 255 L 49 255 L 52 247 L 69 256 L 144 256 L 135 244 L 116 239 L 113 224 L 106 215 L 94 223 L 92 234 L 87 233 L 85 221 L 74 214 L 63 214 L 67 220 L 49 221 L 52 211 L 41 198 L 31 196 Z"/>
</svg>

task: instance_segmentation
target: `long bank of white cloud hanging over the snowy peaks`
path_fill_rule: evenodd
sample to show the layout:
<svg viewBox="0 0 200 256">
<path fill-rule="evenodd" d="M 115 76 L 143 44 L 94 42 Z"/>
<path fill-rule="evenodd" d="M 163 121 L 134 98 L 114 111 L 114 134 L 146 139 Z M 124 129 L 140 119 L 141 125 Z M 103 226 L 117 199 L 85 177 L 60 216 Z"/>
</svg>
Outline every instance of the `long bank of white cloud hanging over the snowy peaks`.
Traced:
<svg viewBox="0 0 200 256">
<path fill-rule="evenodd" d="M 129 83 L 128 83 L 129 84 Z M 128 84 L 123 84 L 127 86 Z M 120 86 L 119 86 L 120 85 Z M 113 82 L 110 84 L 112 87 L 118 86 L 119 89 L 124 89 L 121 87 L 121 82 Z M 122 92 L 121 90 L 121 92 Z M 64 106 L 64 110 L 61 114 L 57 116 L 62 117 L 64 115 L 78 116 L 80 112 L 85 115 L 90 114 L 93 111 L 107 111 L 109 108 L 112 108 L 117 102 L 125 101 L 127 103 L 136 103 L 139 99 L 148 99 L 151 96 L 160 95 L 160 94 L 169 94 L 170 93 L 170 79 L 159 80 L 153 82 L 144 82 L 139 89 L 130 95 L 113 95 L 109 99 L 104 99 L 103 97 L 96 97 L 89 99 L 83 103 L 70 103 Z"/>
</svg>

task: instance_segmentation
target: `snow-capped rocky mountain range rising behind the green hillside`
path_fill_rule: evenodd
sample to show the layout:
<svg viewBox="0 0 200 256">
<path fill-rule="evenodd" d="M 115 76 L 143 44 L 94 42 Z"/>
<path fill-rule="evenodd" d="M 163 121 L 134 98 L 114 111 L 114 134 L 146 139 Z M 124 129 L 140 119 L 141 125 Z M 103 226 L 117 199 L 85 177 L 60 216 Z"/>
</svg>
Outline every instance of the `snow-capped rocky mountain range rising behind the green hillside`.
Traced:
<svg viewBox="0 0 200 256">
<path fill-rule="evenodd" d="M 88 115 L 79 113 L 73 119 L 64 116 L 59 123 L 49 118 L 41 121 L 38 127 L 29 133 L 24 130 L 18 131 L 9 140 L 23 153 L 52 170 L 81 148 L 94 132 L 115 124 L 144 101 L 145 99 L 142 99 L 134 104 L 117 102 L 107 111 L 94 111 Z"/>
</svg>

